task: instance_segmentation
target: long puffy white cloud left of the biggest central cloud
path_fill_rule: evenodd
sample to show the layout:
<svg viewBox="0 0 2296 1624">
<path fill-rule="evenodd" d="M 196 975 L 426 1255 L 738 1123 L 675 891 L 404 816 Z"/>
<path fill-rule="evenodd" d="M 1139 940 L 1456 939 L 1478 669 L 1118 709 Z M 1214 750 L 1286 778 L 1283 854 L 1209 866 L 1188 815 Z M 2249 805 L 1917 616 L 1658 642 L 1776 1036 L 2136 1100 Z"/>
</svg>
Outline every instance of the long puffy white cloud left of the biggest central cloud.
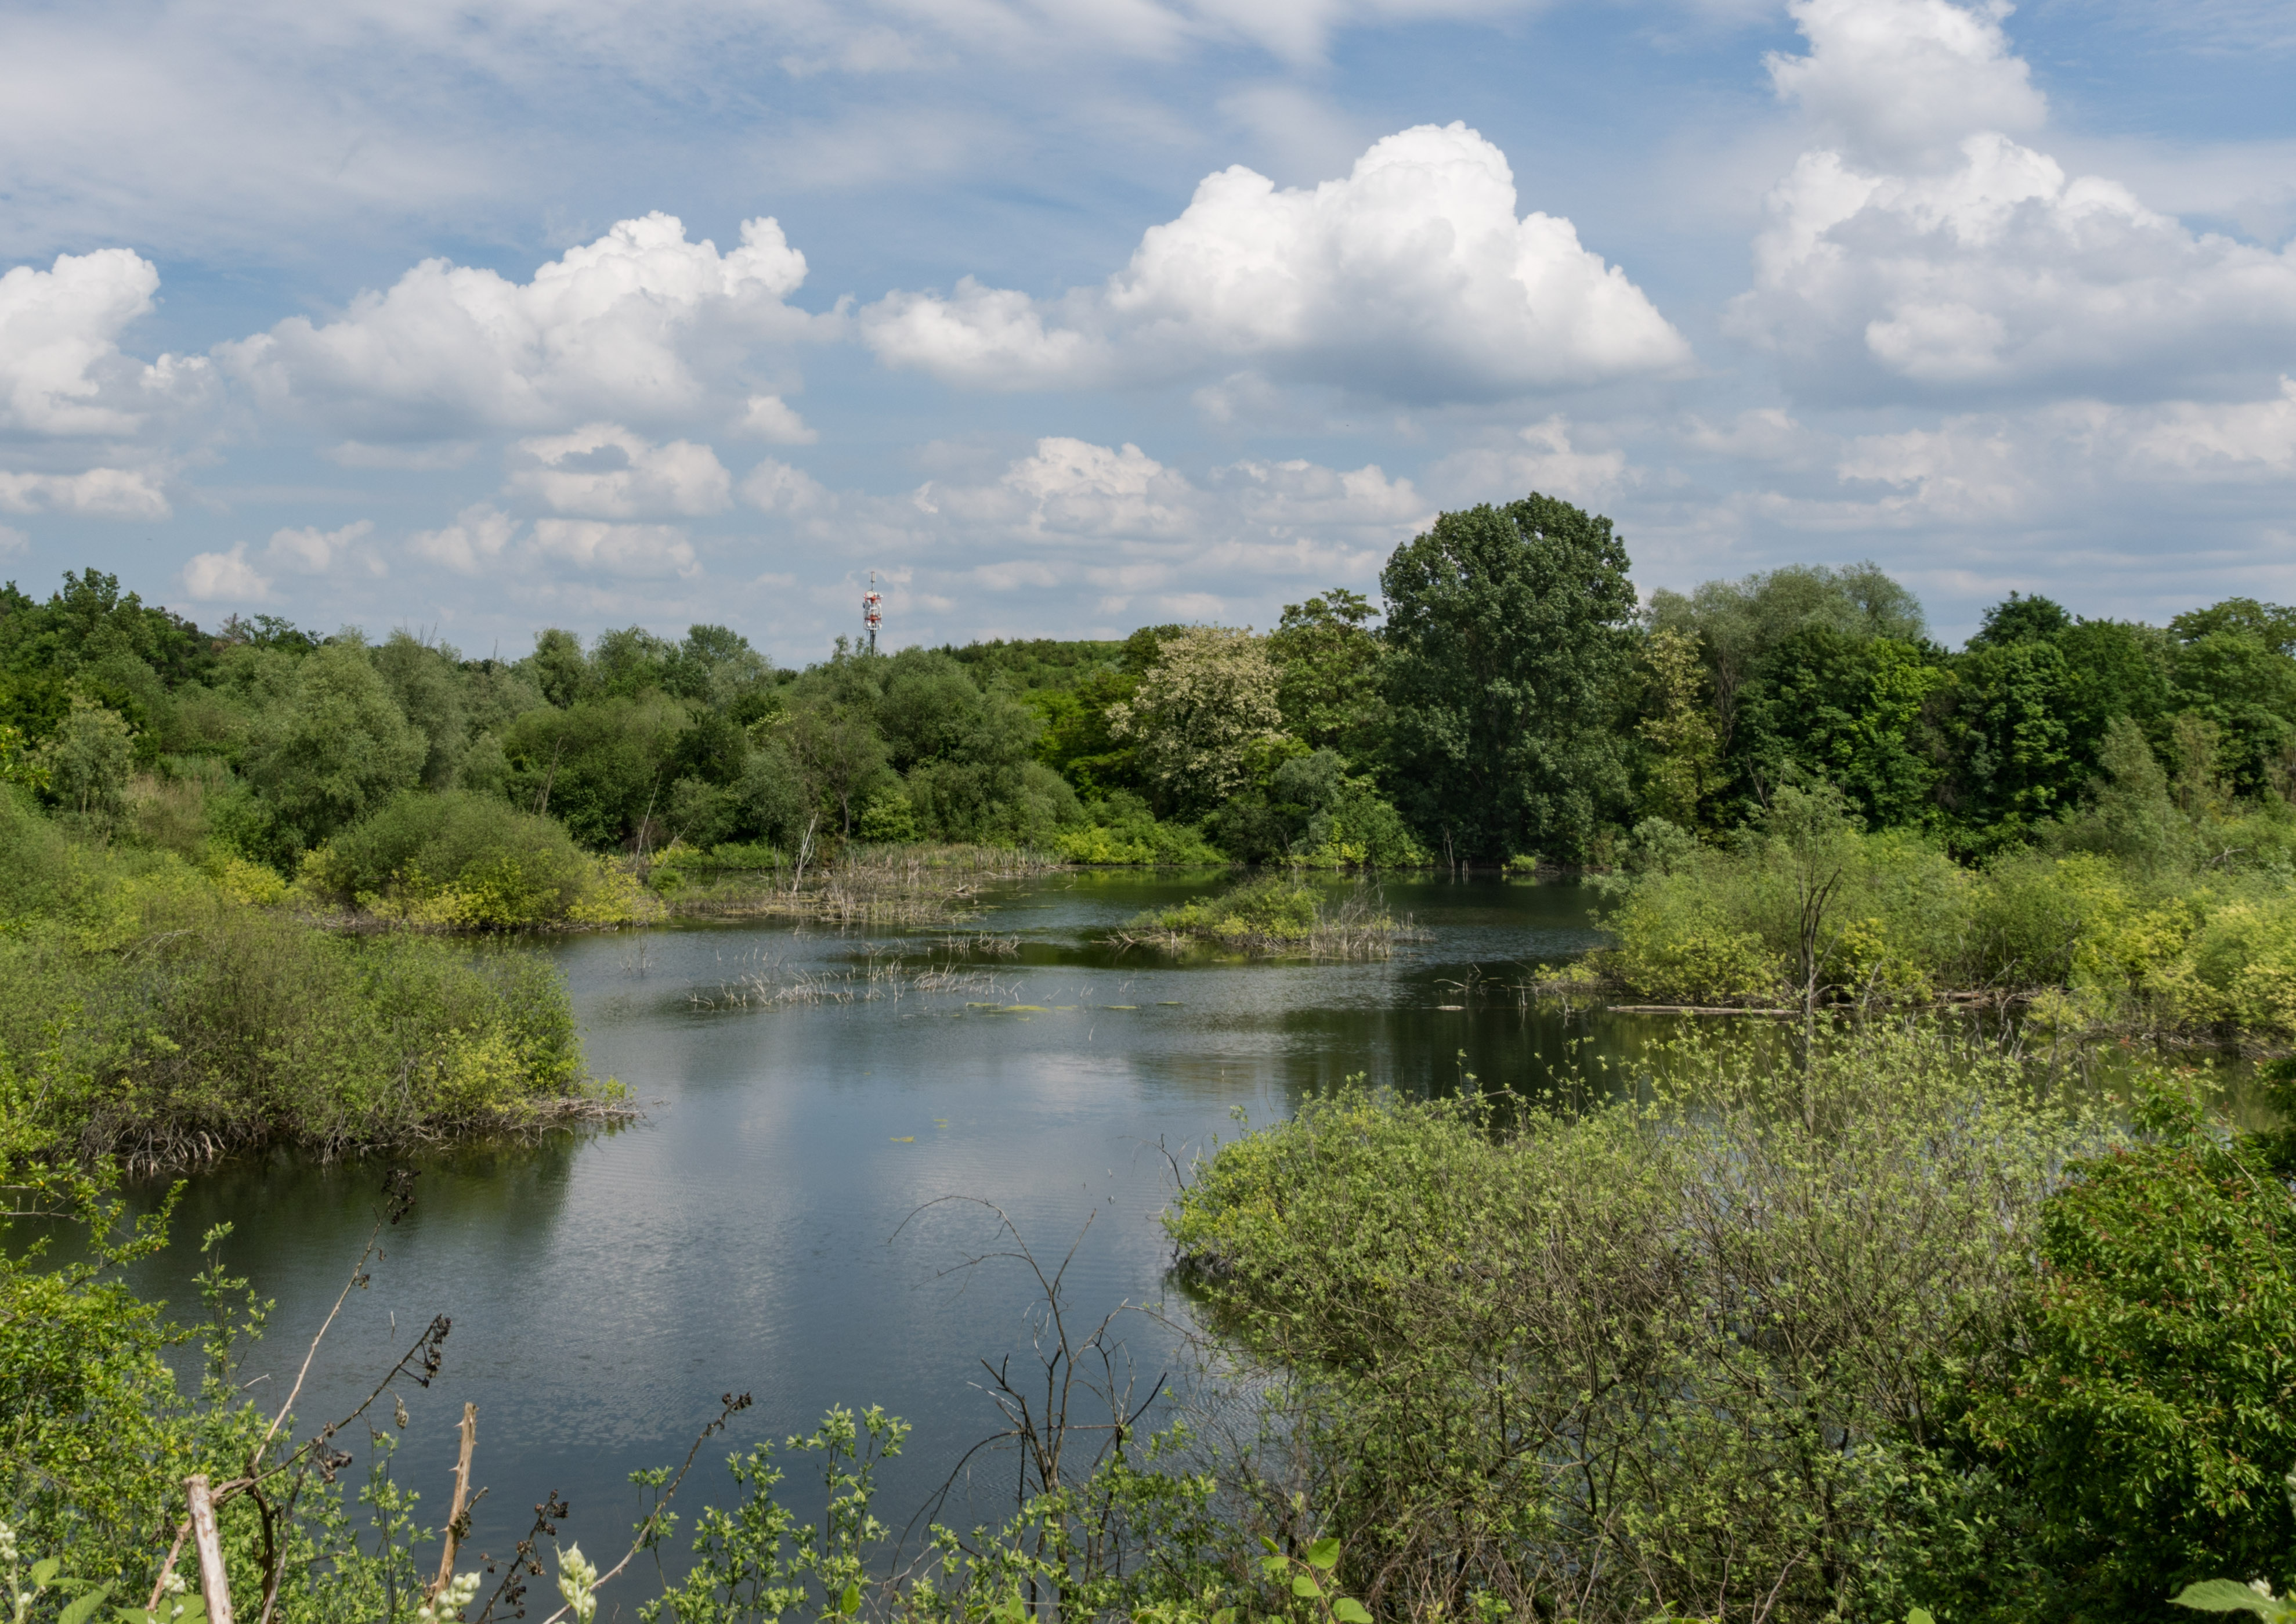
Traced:
<svg viewBox="0 0 2296 1624">
<path fill-rule="evenodd" d="M 647 214 L 528 283 L 425 260 L 340 322 L 289 317 L 216 354 L 271 409 L 315 411 L 363 441 L 668 418 L 698 411 L 748 342 L 815 326 L 783 303 L 804 280 L 806 257 L 771 218 L 746 221 L 742 246 L 719 253 Z"/>
</svg>

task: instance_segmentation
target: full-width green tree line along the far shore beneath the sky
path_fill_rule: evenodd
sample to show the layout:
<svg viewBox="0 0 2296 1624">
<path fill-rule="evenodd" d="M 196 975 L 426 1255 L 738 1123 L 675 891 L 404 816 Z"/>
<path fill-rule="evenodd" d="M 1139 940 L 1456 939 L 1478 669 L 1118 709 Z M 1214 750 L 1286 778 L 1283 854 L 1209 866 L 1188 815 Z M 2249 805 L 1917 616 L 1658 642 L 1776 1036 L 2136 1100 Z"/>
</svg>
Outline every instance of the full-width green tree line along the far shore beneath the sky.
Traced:
<svg viewBox="0 0 2296 1624">
<path fill-rule="evenodd" d="M 154 825 L 138 781 L 197 786 L 156 838 L 282 875 L 448 792 L 592 852 L 1612 866 L 1646 820 L 1715 838 L 1814 783 L 1981 861 L 2082 806 L 2117 721 L 2183 809 L 2296 786 L 2296 609 L 2250 597 L 2154 627 L 2011 593 L 1949 650 L 1869 563 L 1639 602 L 1612 524 L 1536 494 L 1442 515 L 1380 588 L 1267 634 L 840 641 L 781 668 L 723 625 L 553 627 L 517 659 L 273 616 L 200 629 L 67 572 L 46 602 L 0 593 L 0 772 L 113 829 Z"/>
</svg>

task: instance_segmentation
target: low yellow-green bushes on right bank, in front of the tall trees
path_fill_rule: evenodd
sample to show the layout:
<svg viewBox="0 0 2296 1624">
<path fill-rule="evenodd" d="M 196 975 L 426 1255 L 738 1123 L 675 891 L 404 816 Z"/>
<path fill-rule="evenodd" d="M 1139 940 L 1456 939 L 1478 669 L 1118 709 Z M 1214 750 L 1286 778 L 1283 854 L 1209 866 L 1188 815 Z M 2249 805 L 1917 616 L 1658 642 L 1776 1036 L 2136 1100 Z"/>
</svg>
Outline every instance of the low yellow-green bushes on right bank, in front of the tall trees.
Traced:
<svg viewBox="0 0 2296 1624">
<path fill-rule="evenodd" d="M 1623 882 L 1607 917 L 1616 944 L 1593 967 L 1681 1004 L 1986 992 L 2032 997 L 2073 1029 L 2296 1038 L 2287 813 L 2213 832 L 2248 861 L 2209 859 L 2174 809 L 2108 788 L 2048 845 L 1970 871 L 1936 838 L 1867 834 L 1823 792 L 1779 790 L 1729 843 L 1637 829 L 1642 873 Z"/>
</svg>

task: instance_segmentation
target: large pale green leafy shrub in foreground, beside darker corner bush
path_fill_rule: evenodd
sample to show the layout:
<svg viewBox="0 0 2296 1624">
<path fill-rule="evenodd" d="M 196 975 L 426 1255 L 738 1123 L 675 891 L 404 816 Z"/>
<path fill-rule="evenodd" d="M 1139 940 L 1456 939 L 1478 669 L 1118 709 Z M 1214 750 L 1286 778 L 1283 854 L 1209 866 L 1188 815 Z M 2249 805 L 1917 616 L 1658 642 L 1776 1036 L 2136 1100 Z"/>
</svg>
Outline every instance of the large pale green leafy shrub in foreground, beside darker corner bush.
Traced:
<svg viewBox="0 0 2296 1624">
<path fill-rule="evenodd" d="M 1940 1031 L 1777 1059 L 1683 1043 L 1646 1103 L 1513 1121 L 1343 1093 L 1199 1165 L 1166 1222 L 1267 1397 L 1228 1502 L 1304 1486 L 1387 1617 L 1906 1617 L 1931 1371 L 2099 1130 Z"/>
</svg>

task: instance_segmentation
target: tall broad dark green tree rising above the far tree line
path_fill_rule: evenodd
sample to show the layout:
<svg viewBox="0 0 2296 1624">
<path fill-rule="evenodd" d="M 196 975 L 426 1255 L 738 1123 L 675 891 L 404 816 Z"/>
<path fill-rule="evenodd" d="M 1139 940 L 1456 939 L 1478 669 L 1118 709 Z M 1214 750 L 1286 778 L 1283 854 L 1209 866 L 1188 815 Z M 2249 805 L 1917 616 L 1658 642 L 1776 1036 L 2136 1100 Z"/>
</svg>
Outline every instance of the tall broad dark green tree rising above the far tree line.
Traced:
<svg viewBox="0 0 2296 1624">
<path fill-rule="evenodd" d="M 1635 588 L 1609 519 L 1538 494 L 1446 512 L 1380 588 L 1396 804 L 1456 859 L 1584 857 L 1628 788 Z"/>
</svg>

